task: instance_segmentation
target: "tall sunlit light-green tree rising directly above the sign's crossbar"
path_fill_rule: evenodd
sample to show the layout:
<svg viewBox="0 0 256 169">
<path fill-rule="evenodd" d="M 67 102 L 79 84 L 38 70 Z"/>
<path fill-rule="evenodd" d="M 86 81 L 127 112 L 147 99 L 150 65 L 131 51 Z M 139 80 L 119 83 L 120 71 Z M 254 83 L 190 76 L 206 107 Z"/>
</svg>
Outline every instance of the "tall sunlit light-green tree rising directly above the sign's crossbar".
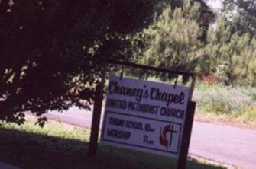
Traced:
<svg viewBox="0 0 256 169">
<path fill-rule="evenodd" d="M 144 38 L 144 50 L 138 49 L 135 58 L 141 63 L 172 69 L 195 68 L 196 51 L 206 40 L 213 14 L 197 1 L 182 2 L 181 7 L 175 8 L 167 4 L 154 24 L 139 34 Z"/>
</svg>

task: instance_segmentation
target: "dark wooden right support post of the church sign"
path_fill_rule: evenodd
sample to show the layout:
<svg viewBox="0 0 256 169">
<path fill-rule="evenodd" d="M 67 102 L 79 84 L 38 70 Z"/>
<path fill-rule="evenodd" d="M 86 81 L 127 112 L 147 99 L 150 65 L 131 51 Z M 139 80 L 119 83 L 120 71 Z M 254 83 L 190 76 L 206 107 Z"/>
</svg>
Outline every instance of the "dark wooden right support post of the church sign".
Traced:
<svg viewBox="0 0 256 169">
<path fill-rule="evenodd" d="M 186 158 L 190 147 L 190 136 L 192 132 L 193 119 L 196 109 L 196 102 L 189 101 L 184 123 L 183 136 L 181 139 L 180 155 L 177 162 L 177 169 L 186 168 Z"/>
</svg>

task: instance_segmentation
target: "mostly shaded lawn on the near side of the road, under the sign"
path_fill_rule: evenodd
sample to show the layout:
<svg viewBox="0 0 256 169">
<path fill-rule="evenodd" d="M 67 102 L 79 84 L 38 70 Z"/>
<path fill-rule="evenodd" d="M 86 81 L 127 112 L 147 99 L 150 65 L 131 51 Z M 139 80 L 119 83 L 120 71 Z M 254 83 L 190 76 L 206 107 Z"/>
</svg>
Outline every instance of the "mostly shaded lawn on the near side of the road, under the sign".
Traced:
<svg viewBox="0 0 256 169">
<path fill-rule="evenodd" d="M 0 159 L 21 168 L 175 168 L 176 160 L 138 151 L 100 145 L 98 155 L 87 157 L 89 129 L 34 118 L 18 126 L 1 122 Z M 223 168 L 190 158 L 188 168 Z"/>
</svg>

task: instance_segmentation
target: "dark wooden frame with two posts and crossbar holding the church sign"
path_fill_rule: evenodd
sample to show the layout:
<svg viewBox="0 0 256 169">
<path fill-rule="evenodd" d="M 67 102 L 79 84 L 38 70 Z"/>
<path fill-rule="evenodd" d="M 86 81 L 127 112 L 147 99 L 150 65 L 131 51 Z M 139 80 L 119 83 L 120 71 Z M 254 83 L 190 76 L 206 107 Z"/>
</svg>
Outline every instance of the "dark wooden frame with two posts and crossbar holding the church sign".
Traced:
<svg viewBox="0 0 256 169">
<path fill-rule="evenodd" d="M 191 101 L 193 90 L 196 83 L 196 74 L 194 72 L 186 72 L 186 71 L 180 71 L 180 70 L 174 70 L 174 69 L 161 69 L 161 68 L 157 68 L 149 65 L 139 65 L 133 62 L 122 62 L 122 61 L 110 60 L 110 59 L 105 61 L 106 61 L 105 63 L 112 64 L 112 65 L 122 65 L 122 66 L 139 68 L 144 70 L 153 70 L 155 72 L 165 72 L 171 75 L 183 75 L 183 76 L 192 78 L 192 82 L 190 85 L 189 101 L 186 108 L 186 116 L 185 116 L 184 126 L 183 126 L 183 133 L 181 133 L 182 139 L 181 139 L 181 145 L 180 145 L 180 153 L 178 155 L 178 161 L 177 161 L 178 169 L 186 168 L 186 158 L 188 155 L 191 131 L 193 127 L 193 117 L 196 109 L 196 102 Z M 104 85 L 105 85 L 105 66 L 103 66 L 101 81 L 98 81 L 98 85 L 96 85 L 96 97 L 98 99 L 95 100 L 95 105 L 94 105 L 93 114 L 92 114 L 92 128 L 91 128 L 91 135 L 89 140 L 89 149 L 87 154 L 89 157 L 95 156 L 97 152 Z"/>
</svg>

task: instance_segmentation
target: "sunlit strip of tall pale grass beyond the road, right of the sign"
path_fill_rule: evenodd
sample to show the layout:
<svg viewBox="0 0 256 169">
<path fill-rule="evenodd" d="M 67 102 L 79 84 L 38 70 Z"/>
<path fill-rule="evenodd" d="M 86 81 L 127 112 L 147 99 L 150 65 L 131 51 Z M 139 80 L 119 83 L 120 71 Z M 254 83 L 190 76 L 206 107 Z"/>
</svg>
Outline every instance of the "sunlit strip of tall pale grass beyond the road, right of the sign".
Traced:
<svg viewBox="0 0 256 169">
<path fill-rule="evenodd" d="M 256 88 L 198 83 L 193 94 L 197 112 L 256 123 Z"/>
</svg>

